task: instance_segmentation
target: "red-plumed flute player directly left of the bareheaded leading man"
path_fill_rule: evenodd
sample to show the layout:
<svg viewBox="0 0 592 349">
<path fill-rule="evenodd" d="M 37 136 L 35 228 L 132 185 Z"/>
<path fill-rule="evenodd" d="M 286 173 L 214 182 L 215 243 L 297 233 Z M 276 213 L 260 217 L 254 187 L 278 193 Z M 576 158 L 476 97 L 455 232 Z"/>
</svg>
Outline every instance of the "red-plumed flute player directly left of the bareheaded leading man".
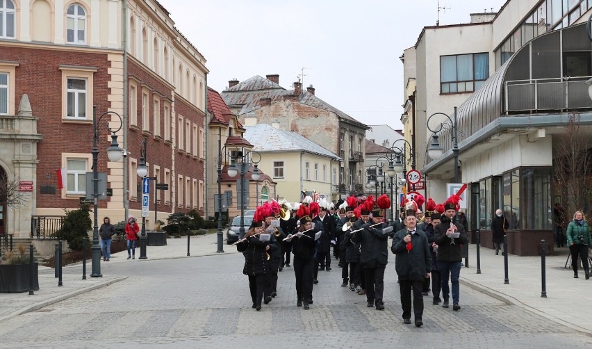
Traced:
<svg viewBox="0 0 592 349">
<path fill-rule="evenodd" d="M 367 215 L 370 213 L 373 204 L 372 196 L 369 195 L 362 204 L 362 214 L 366 213 Z M 390 200 L 388 204 L 390 205 Z M 365 223 L 361 226 L 363 230 L 353 234 L 352 242 L 361 243 L 360 263 L 365 274 L 366 300 L 368 300 L 368 307 L 376 305 L 377 310 L 384 310 L 384 302 L 382 301 L 384 269 L 386 263 L 388 263 L 386 246 L 388 235 L 382 232 L 382 229 L 386 228 L 384 210 L 374 209 L 372 211 L 372 223 Z"/>
</svg>

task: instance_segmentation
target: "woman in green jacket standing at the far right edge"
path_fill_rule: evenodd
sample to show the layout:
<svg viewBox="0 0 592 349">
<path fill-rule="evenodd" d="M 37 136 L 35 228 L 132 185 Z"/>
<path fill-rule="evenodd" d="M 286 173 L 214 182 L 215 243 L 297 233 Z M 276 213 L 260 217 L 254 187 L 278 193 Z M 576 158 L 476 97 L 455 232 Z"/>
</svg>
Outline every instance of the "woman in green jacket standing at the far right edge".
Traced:
<svg viewBox="0 0 592 349">
<path fill-rule="evenodd" d="M 592 236 L 588 228 L 588 223 L 586 223 L 586 216 L 584 216 L 582 211 L 575 211 L 573 220 L 569 222 L 567 239 L 571 253 L 573 277 L 577 279 L 577 256 L 579 255 L 579 258 L 582 259 L 582 266 L 584 266 L 586 280 L 589 279 L 588 250 L 592 246 Z"/>
</svg>

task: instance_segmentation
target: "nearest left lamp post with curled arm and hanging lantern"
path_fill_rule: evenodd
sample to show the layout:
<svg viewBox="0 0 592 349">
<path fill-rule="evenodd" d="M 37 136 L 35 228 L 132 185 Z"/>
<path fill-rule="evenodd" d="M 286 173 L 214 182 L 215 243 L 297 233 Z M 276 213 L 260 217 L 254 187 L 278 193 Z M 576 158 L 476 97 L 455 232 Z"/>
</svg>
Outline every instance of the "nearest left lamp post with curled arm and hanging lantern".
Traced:
<svg viewBox="0 0 592 349">
<path fill-rule="evenodd" d="M 111 133 L 111 145 L 107 148 L 107 156 L 110 161 L 120 161 L 123 156 L 123 150 L 117 144 L 117 133 L 123 127 L 123 120 L 121 115 L 115 113 L 115 111 L 106 111 L 99 116 L 97 120 L 97 106 L 92 106 L 92 197 L 94 200 L 92 213 L 94 215 L 94 225 L 92 226 L 92 247 L 90 252 L 92 256 L 92 273 L 90 277 L 102 277 L 101 274 L 101 246 L 99 246 L 99 169 L 97 168 L 97 162 L 99 160 L 99 148 L 97 143 L 99 142 L 99 124 L 105 115 L 113 114 L 119 117 L 120 127 L 113 130 L 110 129 L 107 124 L 107 130 Z"/>
</svg>

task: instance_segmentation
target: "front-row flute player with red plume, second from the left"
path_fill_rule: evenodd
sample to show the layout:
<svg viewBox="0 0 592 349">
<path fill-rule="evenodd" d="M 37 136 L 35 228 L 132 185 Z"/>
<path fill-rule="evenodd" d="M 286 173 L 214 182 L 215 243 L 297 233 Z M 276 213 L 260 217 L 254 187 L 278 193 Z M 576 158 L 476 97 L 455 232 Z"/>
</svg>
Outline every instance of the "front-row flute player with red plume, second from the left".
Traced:
<svg viewBox="0 0 592 349">
<path fill-rule="evenodd" d="M 300 227 L 295 233 L 288 235 L 288 241 L 292 243 L 294 254 L 294 274 L 296 276 L 297 307 L 309 308 L 309 300 L 313 297 L 313 266 L 315 253 L 315 231 L 311 221 L 310 210 L 301 205 L 297 211 L 300 217 Z"/>
</svg>

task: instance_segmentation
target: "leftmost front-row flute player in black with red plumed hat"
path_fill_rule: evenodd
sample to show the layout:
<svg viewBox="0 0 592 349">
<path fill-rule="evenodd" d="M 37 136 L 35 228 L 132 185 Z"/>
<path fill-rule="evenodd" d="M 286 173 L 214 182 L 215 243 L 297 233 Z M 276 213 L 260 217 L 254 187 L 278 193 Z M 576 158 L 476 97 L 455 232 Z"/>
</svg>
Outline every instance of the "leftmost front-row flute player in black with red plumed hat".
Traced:
<svg viewBox="0 0 592 349">
<path fill-rule="evenodd" d="M 261 310 L 263 293 L 268 287 L 268 277 L 271 273 L 270 252 L 277 249 L 277 245 L 261 239 L 263 230 L 263 216 L 255 211 L 251 227 L 245 234 L 245 238 L 236 245 L 236 250 L 245 256 L 245 267 L 242 273 L 249 276 L 249 289 L 253 300 L 253 308 Z M 271 295 L 265 295 L 265 303 L 271 301 Z"/>
</svg>

